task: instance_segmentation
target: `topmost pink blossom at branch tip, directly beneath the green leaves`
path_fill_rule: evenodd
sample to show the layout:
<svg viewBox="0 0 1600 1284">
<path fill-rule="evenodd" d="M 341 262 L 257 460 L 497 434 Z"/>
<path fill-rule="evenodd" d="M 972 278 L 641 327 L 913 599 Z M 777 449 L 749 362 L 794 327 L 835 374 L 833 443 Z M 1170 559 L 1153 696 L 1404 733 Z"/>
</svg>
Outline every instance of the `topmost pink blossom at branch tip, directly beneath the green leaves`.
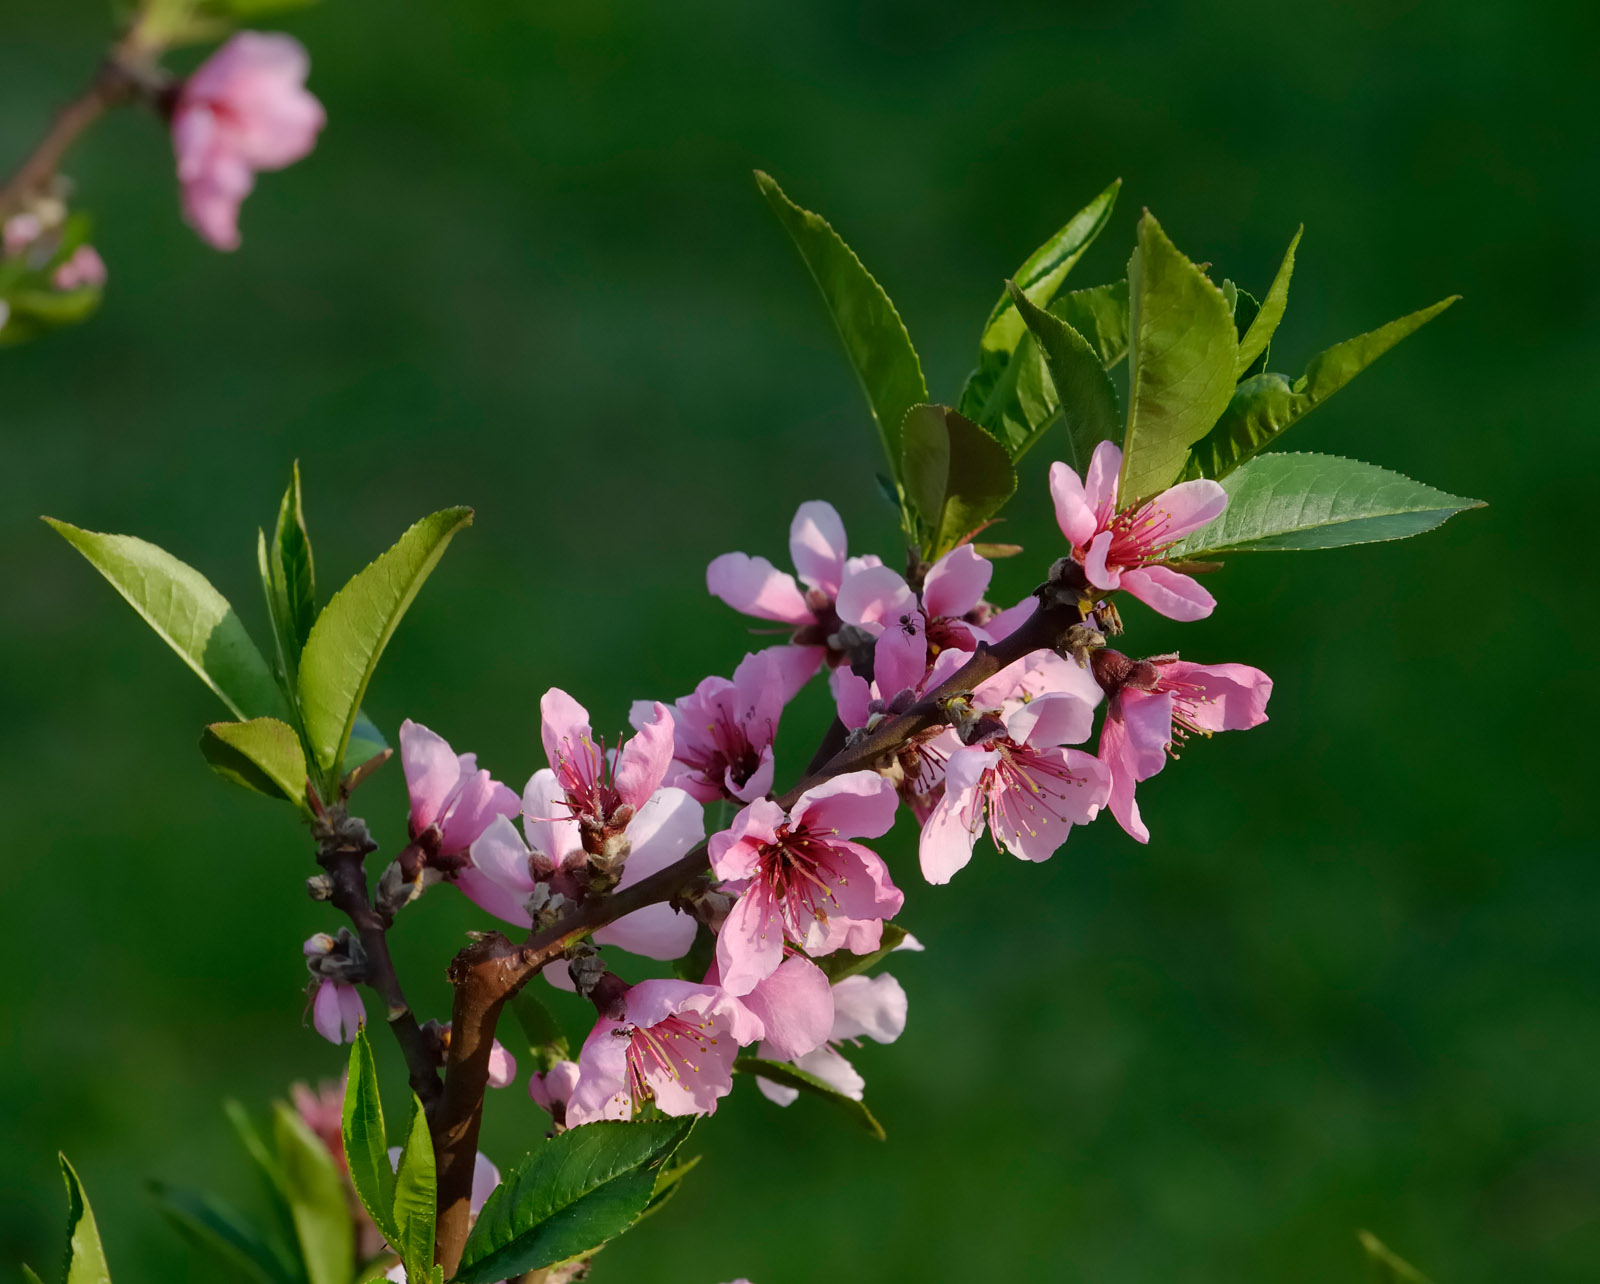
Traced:
<svg viewBox="0 0 1600 1284">
<path fill-rule="evenodd" d="M 1162 559 L 1186 535 L 1222 516 L 1227 492 L 1206 479 L 1179 482 L 1118 512 L 1120 471 L 1122 451 L 1112 442 L 1094 447 L 1086 480 L 1062 463 L 1050 466 L 1056 524 L 1074 560 L 1098 589 L 1126 589 L 1170 620 L 1203 620 L 1216 599 Z"/>
</svg>

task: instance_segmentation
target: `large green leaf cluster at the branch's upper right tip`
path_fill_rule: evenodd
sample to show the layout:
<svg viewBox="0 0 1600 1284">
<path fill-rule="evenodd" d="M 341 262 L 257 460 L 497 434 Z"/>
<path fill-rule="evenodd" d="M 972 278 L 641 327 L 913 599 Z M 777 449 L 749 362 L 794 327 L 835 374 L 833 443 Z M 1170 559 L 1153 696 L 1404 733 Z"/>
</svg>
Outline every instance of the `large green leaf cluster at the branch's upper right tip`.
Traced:
<svg viewBox="0 0 1600 1284">
<path fill-rule="evenodd" d="M 1053 456 L 1080 474 L 1101 442 L 1117 442 L 1122 508 L 1179 480 L 1224 482 L 1229 514 L 1174 557 L 1395 540 L 1477 506 L 1373 464 L 1258 458 L 1454 298 L 1334 344 L 1291 379 L 1269 362 L 1299 231 L 1259 299 L 1232 280 L 1213 283 L 1149 211 L 1138 221 L 1125 280 L 1062 288 L 1110 221 L 1114 183 L 1016 269 L 984 322 L 978 365 L 955 407 L 941 407 L 928 400 L 917 352 L 878 282 L 822 218 L 766 175 L 757 181 L 845 341 L 888 456 L 885 488 L 925 562 L 1000 517 L 1018 485 L 1018 461 L 1046 437 Z M 1112 373 L 1123 359 L 1118 397 Z"/>
</svg>

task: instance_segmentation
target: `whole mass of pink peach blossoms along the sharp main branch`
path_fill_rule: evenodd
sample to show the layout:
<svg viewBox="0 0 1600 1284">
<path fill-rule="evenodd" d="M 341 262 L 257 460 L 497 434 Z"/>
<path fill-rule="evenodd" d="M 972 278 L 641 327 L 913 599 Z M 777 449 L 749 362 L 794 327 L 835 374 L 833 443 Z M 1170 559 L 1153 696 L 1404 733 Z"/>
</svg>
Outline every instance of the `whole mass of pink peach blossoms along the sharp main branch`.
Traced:
<svg viewBox="0 0 1600 1284">
<path fill-rule="evenodd" d="M 1120 464 L 1117 447 L 1102 443 L 1085 477 L 1051 469 L 1069 546 L 1054 578 L 1077 584 L 1085 620 L 1107 629 L 1117 615 L 1106 599 L 1118 589 L 1173 620 L 1203 618 L 1213 597 L 1166 554 L 1222 512 L 1226 493 L 1194 480 L 1118 508 Z M 934 884 L 968 865 L 986 829 L 997 847 L 1042 861 L 1109 809 L 1144 842 L 1136 786 L 1189 736 L 1266 719 L 1272 682 L 1259 669 L 1134 660 L 1099 632 L 1082 650 L 1034 650 L 963 688 L 962 668 L 1038 608 L 1034 597 L 1005 608 L 986 600 L 992 564 L 970 543 L 901 575 L 878 557 L 851 557 L 838 514 L 813 501 L 795 514 L 790 554 L 792 575 L 730 552 L 706 576 L 730 607 L 786 626 L 782 642 L 670 704 L 637 703 L 632 735 L 616 746 L 595 735 L 571 695 L 549 690 L 539 709 L 547 765 L 520 794 L 429 728 L 400 730 L 419 885 L 453 884 L 496 919 L 538 930 L 696 850 L 710 871 L 594 932 L 595 946 L 656 961 L 685 959 L 710 933 L 702 975 L 629 985 L 589 946 L 568 954 L 568 969 L 546 972 L 598 1012 L 578 1060 L 530 1081 L 557 1127 L 630 1119 L 646 1106 L 709 1114 L 746 1047 L 859 1100 L 861 1076 L 842 1049 L 896 1039 L 906 993 L 888 973 L 830 964 L 883 953 L 885 924 L 904 895 L 867 844 L 890 833 L 902 807 L 920 826 L 922 873 Z M 941 717 L 870 767 L 824 767 L 774 797 L 784 708 L 824 671 L 846 746 L 930 700 Z M 1098 748 L 1078 748 L 1098 709 Z M 722 828 L 710 829 L 709 815 Z M 891 943 L 920 948 L 898 930 Z M 307 943 L 315 1023 L 334 1041 L 360 1021 L 352 953 L 358 943 L 347 933 Z M 496 1055 L 496 1082 L 509 1082 L 515 1069 L 504 1050 Z M 762 1089 L 781 1103 L 794 1098 L 778 1082 Z"/>
</svg>

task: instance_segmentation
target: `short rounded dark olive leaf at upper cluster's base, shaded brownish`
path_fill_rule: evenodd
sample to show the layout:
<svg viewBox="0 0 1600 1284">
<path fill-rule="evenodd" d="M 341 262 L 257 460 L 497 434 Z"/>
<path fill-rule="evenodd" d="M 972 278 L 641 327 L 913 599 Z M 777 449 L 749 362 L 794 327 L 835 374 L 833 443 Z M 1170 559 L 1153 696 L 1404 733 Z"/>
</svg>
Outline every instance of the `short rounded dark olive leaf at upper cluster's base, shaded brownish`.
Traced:
<svg viewBox="0 0 1600 1284">
<path fill-rule="evenodd" d="M 955 548 L 1016 493 L 1005 447 L 949 407 L 912 407 L 902 440 L 906 495 L 922 519 L 928 560 Z"/>
</svg>

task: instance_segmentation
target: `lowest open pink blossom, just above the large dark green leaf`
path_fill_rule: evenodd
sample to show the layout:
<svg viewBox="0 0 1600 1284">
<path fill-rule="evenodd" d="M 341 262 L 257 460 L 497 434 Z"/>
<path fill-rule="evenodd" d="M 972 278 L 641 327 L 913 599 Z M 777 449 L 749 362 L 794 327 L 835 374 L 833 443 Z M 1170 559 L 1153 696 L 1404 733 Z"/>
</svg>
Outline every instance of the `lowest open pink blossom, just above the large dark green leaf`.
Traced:
<svg viewBox="0 0 1600 1284">
<path fill-rule="evenodd" d="M 758 1037 L 760 1020 L 717 986 L 640 981 L 622 1018 L 602 1018 L 584 1041 L 566 1122 L 632 1119 L 645 1101 L 662 1114 L 710 1114 L 733 1090 L 739 1049 Z"/>
</svg>

